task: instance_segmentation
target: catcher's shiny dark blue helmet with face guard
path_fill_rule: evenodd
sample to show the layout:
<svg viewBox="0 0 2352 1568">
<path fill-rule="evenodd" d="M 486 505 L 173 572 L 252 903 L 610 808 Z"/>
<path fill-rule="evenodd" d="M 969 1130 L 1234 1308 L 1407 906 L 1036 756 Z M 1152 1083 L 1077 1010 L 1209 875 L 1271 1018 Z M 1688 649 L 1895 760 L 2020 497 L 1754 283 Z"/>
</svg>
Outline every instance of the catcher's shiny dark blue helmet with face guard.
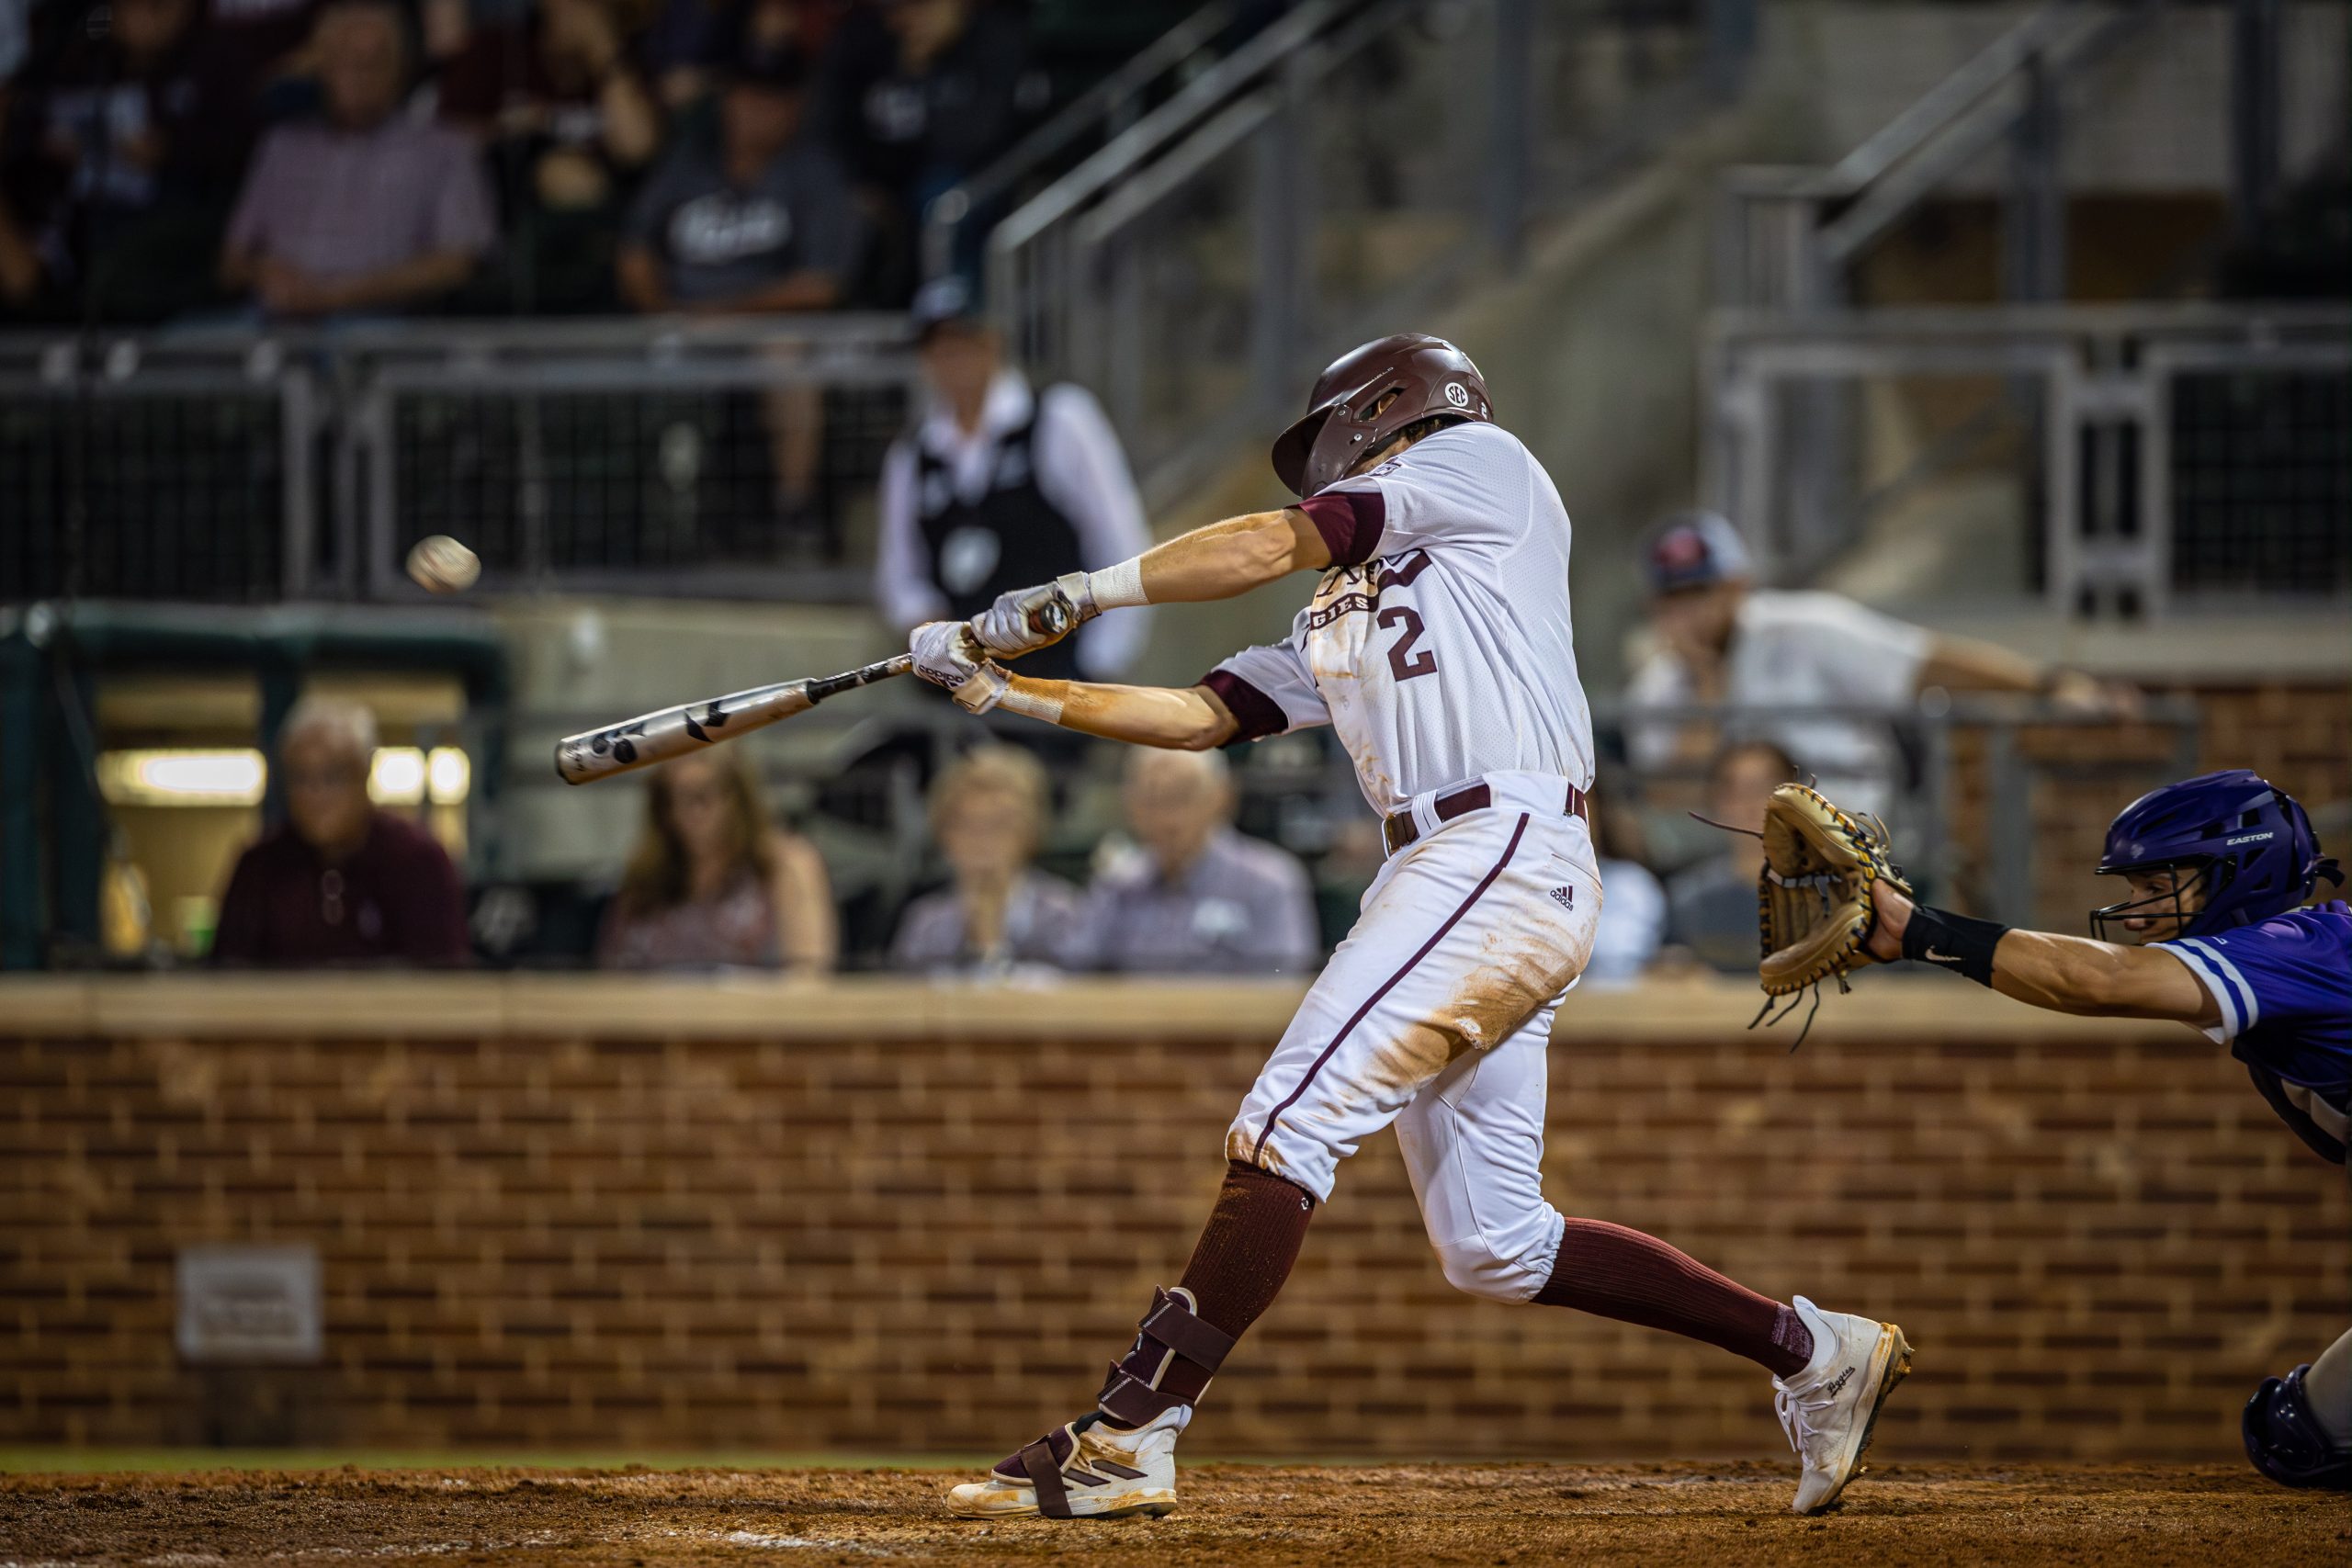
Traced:
<svg viewBox="0 0 2352 1568">
<path fill-rule="evenodd" d="M 2319 877 L 2343 882 L 2319 856 L 2312 820 L 2296 797 L 2249 769 L 2199 773 L 2150 790 L 2107 825 L 2100 877 L 2152 870 L 2194 870 L 2173 893 L 2110 903 L 2091 910 L 2091 936 L 2105 940 L 2107 922 L 2171 917 L 2166 938 L 2211 936 L 2293 910 Z M 2204 886 L 2204 907 L 2183 914 L 2180 893 Z M 2161 905 L 2171 907 L 2161 907 Z"/>
</svg>

